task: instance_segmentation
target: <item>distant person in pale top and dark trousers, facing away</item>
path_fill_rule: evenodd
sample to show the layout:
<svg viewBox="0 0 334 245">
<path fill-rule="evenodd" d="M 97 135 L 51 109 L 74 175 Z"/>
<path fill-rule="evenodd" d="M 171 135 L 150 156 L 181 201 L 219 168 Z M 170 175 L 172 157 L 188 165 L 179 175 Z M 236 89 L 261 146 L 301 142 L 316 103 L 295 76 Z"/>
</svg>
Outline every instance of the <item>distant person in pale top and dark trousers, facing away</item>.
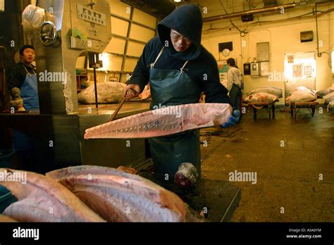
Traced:
<svg viewBox="0 0 334 245">
<path fill-rule="evenodd" d="M 230 105 L 233 108 L 237 108 L 240 110 L 241 101 L 242 101 L 242 91 L 241 91 L 241 82 L 242 82 L 242 75 L 240 70 L 235 65 L 234 58 L 229 58 L 228 61 L 228 92 L 230 96 Z"/>
</svg>

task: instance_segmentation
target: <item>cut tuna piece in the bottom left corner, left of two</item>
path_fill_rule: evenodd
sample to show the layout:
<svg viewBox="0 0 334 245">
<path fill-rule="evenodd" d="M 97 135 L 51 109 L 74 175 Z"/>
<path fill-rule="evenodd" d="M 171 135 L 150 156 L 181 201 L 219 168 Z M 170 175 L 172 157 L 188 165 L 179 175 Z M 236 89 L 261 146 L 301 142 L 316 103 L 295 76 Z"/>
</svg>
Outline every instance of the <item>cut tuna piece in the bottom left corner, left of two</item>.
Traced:
<svg viewBox="0 0 334 245">
<path fill-rule="evenodd" d="M 10 181 L 4 176 L 25 173 L 25 180 Z M 77 196 L 55 180 L 35 172 L 0 169 L 0 183 L 16 196 L 4 215 L 21 222 L 105 222 Z"/>
</svg>

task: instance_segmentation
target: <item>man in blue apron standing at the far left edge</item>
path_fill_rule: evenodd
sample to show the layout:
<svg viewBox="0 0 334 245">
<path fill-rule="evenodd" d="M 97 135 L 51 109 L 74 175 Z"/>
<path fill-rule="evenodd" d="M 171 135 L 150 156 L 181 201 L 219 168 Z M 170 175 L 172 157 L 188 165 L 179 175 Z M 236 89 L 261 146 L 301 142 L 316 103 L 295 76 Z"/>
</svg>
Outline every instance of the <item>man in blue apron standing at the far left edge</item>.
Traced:
<svg viewBox="0 0 334 245">
<path fill-rule="evenodd" d="M 20 61 L 8 69 L 8 89 L 12 106 L 17 111 L 36 111 L 39 109 L 35 49 L 31 45 L 20 48 Z M 18 168 L 31 170 L 33 141 L 30 136 L 18 130 L 13 132 L 13 149 L 17 151 Z"/>
</svg>

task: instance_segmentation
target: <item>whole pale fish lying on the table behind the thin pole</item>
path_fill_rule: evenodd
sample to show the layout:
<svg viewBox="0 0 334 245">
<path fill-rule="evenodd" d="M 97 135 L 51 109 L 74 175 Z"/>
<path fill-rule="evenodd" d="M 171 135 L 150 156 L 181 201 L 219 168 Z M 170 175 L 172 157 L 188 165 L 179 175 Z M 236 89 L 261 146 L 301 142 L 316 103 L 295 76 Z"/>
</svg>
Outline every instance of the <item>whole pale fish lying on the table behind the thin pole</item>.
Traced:
<svg viewBox="0 0 334 245">
<path fill-rule="evenodd" d="M 97 83 L 98 103 L 117 103 L 124 98 L 123 82 L 99 82 Z M 78 102 L 82 104 L 95 103 L 94 85 L 87 87 L 78 94 Z"/>
</svg>

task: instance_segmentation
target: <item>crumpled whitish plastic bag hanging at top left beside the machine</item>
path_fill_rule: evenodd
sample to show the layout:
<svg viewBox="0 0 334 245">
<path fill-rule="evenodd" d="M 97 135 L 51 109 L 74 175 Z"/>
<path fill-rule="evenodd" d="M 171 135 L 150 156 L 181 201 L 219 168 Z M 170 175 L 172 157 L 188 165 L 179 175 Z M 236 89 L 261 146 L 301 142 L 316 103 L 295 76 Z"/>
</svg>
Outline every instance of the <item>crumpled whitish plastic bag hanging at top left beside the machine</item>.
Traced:
<svg viewBox="0 0 334 245">
<path fill-rule="evenodd" d="M 28 5 L 22 13 L 22 25 L 25 32 L 36 32 L 46 20 L 44 8 Z"/>
</svg>

